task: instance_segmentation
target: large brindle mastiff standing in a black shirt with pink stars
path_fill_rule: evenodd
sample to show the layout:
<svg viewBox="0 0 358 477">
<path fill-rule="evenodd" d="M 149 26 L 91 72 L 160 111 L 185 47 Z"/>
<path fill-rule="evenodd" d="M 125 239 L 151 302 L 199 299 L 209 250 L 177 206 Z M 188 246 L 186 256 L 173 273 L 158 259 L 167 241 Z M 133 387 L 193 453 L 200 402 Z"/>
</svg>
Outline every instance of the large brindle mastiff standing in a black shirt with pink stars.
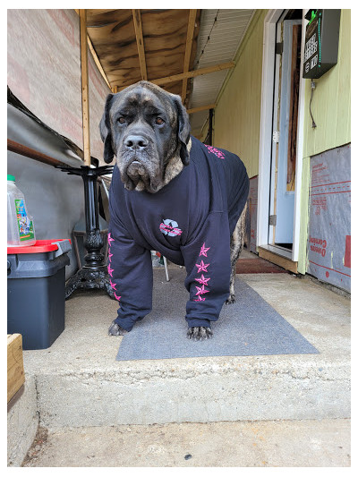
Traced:
<svg viewBox="0 0 358 477">
<path fill-rule="evenodd" d="M 148 81 L 108 95 L 99 127 L 105 161 L 116 158 L 108 273 L 120 308 L 108 334 L 124 335 L 151 310 L 157 250 L 187 270 L 187 336 L 210 338 L 222 304 L 235 300 L 249 184 L 243 163 L 191 138 L 181 98 Z"/>
</svg>

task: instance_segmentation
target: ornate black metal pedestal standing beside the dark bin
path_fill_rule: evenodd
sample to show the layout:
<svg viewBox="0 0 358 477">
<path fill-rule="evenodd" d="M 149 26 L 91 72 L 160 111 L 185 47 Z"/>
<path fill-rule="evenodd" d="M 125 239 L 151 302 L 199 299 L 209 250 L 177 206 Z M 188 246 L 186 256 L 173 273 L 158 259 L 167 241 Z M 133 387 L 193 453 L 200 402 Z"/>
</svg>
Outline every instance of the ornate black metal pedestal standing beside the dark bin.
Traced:
<svg viewBox="0 0 358 477">
<path fill-rule="evenodd" d="M 62 167 L 59 168 L 69 175 L 81 175 L 84 184 L 84 205 L 86 218 L 86 236 L 83 245 L 87 250 L 84 266 L 71 277 L 65 287 L 65 298 L 77 288 L 101 288 L 115 299 L 114 291 L 109 285 L 105 256 L 101 253 L 104 242 L 99 229 L 97 178 L 99 175 L 110 174 L 113 166 L 101 167 Z"/>
</svg>

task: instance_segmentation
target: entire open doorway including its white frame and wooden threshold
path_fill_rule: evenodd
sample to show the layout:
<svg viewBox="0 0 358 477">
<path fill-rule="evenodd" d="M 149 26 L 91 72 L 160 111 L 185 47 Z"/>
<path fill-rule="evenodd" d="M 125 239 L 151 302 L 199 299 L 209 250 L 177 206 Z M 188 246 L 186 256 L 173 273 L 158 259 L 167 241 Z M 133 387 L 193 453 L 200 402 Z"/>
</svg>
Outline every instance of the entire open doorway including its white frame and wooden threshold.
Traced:
<svg viewBox="0 0 358 477">
<path fill-rule="evenodd" d="M 261 256 L 293 271 L 303 162 L 303 26 L 303 10 L 268 12 L 262 69 L 257 244 Z"/>
</svg>

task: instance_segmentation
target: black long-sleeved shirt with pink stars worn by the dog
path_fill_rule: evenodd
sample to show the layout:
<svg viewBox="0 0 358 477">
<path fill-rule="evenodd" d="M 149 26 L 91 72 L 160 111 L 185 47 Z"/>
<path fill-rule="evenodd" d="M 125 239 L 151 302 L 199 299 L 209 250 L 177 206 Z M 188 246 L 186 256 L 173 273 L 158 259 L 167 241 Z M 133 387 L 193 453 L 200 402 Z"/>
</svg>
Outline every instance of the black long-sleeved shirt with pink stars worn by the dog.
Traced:
<svg viewBox="0 0 358 477">
<path fill-rule="evenodd" d="M 229 294 L 230 236 L 249 177 L 233 153 L 191 139 L 189 165 L 157 193 L 127 191 L 115 166 L 108 273 L 120 305 L 115 323 L 127 331 L 151 311 L 151 250 L 186 268 L 189 328 L 210 327 Z"/>
</svg>

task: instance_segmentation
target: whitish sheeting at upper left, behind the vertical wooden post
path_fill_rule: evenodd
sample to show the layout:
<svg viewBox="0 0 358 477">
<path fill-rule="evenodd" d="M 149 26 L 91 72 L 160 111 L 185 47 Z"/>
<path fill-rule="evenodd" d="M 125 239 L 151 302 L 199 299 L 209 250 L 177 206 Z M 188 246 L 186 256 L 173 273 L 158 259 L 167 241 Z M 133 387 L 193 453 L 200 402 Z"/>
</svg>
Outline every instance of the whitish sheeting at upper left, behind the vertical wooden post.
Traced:
<svg viewBox="0 0 358 477">
<path fill-rule="evenodd" d="M 7 11 L 7 81 L 38 118 L 83 149 L 80 17 L 74 10 Z M 89 51 L 90 153 L 102 161 L 98 124 L 106 81 Z"/>
</svg>

